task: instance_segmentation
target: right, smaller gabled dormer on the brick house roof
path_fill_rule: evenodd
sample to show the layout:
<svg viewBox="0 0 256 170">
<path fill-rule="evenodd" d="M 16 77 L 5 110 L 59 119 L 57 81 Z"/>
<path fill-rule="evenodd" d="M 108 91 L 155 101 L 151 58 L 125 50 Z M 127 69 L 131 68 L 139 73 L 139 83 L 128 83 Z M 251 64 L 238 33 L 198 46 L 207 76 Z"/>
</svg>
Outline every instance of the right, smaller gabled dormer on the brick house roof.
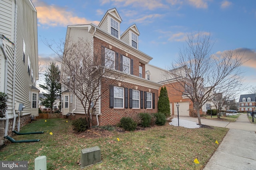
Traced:
<svg viewBox="0 0 256 170">
<path fill-rule="evenodd" d="M 136 24 L 130 26 L 124 33 L 121 35 L 121 40 L 131 45 L 132 47 L 138 49 L 138 36 L 140 32 L 136 27 Z"/>
</svg>

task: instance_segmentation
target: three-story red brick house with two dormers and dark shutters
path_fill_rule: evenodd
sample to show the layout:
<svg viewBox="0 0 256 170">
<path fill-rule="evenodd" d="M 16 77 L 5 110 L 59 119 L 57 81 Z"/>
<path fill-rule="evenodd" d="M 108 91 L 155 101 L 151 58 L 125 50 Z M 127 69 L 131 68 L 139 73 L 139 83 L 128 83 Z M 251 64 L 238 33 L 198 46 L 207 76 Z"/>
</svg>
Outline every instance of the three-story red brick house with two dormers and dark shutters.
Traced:
<svg viewBox="0 0 256 170">
<path fill-rule="evenodd" d="M 85 51 L 101 54 L 105 69 L 113 71 L 113 74 L 126 74 L 122 81 L 102 78 L 102 94 L 94 105 L 93 125 L 115 125 L 122 117 L 158 111 L 157 95 L 161 84 L 145 79 L 145 64 L 148 64 L 152 57 L 138 50 L 140 33 L 135 24 L 120 35 L 121 22 L 116 8 L 113 8 L 106 12 L 98 26 L 84 24 L 69 25 L 67 28 L 65 45 L 70 41 L 78 42 L 78 39 L 82 39 L 86 41 Z M 62 64 L 62 76 L 65 75 L 63 68 Z M 63 86 L 62 115 L 66 114 L 70 114 L 74 119 L 85 116 L 84 108 L 76 96 Z"/>
</svg>

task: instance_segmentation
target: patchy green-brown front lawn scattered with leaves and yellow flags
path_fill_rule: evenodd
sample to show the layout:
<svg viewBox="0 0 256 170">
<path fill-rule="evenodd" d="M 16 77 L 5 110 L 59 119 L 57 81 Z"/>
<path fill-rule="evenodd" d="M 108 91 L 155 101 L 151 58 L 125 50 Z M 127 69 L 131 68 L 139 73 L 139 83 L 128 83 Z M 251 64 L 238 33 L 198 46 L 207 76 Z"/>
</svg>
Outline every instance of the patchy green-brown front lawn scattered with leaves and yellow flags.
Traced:
<svg viewBox="0 0 256 170">
<path fill-rule="evenodd" d="M 215 141 L 221 143 L 228 131 L 220 127 L 188 129 L 166 123 L 134 132 L 94 128 L 74 133 L 71 121 L 67 120 L 39 119 L 22 127 L 20 132 L 44 133 L 12 138 L 16 141 L 40 139 L 40 142 L 8 141 L 8 145 L 0 149 L 0 160 L 28 161 L 28 169 L 33 170 L 34 159 L 45 155 L 48 170 L 79 170 L 81 150 L 98 146 L 102 163 L 87 169 L 202 170 L 218 147 Z M 194 163 L 195 158 L 200 164 Z"/>
</svg>

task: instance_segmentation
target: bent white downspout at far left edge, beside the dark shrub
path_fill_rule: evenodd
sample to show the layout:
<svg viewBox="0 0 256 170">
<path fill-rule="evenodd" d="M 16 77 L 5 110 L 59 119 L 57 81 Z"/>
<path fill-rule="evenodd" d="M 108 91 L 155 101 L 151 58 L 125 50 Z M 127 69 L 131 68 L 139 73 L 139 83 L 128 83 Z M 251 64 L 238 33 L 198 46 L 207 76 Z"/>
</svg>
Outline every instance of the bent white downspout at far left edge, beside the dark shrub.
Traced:
<svg viewBox="0 0 256 170">
<path fill-rule="evenodd" d="M 7 94 L 7 71 L 8 71 L 8 59 L 6 56 L 6 53 L 4 51 L 4 45 L 3 45 L 3 35 L 0 40 L 0 48 L 4 54 L 4 93 Z M 9 127 L 9 115 L 8 113 L 5 114 L 5 129 L 4 129 L 4 137 L 8 136 L 8 127 Z"/>
</svg>

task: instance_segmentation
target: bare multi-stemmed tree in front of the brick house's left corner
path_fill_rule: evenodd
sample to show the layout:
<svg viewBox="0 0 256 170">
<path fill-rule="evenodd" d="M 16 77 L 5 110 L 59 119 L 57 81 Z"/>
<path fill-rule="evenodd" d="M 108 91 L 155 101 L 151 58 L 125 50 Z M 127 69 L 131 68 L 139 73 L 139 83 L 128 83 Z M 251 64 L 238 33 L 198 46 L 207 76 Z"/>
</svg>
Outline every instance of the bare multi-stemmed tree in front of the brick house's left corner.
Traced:
<svg viewBox="0 0 256 170">
<path fill-rule="evenodd" d="M 125 78 L 125 68 L 115 70 L 111 51 L 105 49 L 92 50 L 88 42 L 83 39 L 66 41 L 65 46 L 57 44 L 58 49 L 46 43 L 50 49 L 62 59 L 62 74 L 60 82 L 70 94 L 74 94 L 84 108 L 88 129 L 92 127 L 92 114 L 95 105 L 101 96 L 109 89 L 103 90 L 102 84 L 109 81 L 120 81 Z M 56 44 L 55 44 L 56 45 Z M 63 53 L 59 53 L 64 47 Z M 63 54 L 63 55 L 62 55 Z M 109 57 L 107 57 L 109 56 Z"/>
</svg>

